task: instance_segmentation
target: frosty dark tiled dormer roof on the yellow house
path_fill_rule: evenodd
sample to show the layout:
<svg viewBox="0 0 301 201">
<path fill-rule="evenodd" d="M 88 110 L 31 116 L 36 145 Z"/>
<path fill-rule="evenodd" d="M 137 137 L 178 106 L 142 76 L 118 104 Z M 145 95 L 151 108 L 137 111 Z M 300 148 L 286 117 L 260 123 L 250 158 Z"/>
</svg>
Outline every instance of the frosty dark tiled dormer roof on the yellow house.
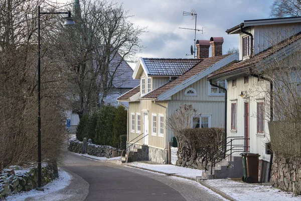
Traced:
<svg viewBox="0 0 301 201">
<path fill-rule="evenodd" d="M 142 58 L 148 75 L 180 76 L 202 59 Z"/>
</svg>

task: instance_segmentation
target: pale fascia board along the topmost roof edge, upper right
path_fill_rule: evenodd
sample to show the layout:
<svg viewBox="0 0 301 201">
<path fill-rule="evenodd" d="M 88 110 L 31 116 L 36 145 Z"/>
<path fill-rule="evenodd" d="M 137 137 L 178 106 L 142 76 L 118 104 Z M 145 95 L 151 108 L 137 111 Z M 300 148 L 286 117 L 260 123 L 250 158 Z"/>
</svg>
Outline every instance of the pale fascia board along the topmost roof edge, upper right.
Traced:
<svg viewBox="0 0 301 201">
<path fill-rule="evenodd" d="M 247 20 L 244 21 L 244 26 L 260 26 L 260 25 L 276 25 L 287 23 L 300 23 L 301 18 L 282 18 L 282 19 L 264 19 L 264 20 Z"/>
</svg>

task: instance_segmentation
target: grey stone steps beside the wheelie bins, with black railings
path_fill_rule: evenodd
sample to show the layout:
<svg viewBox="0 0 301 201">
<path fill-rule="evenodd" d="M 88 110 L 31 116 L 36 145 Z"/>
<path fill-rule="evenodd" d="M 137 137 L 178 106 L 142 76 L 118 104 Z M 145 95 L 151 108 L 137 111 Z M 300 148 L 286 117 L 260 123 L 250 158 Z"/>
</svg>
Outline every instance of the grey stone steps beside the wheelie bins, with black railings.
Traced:
<svg viewBox="0 0 301 201">
<path fill-rule="evenodd" d="M 222 179 L 222 178 L 241 178 L 243 176 L 242 157 L 239 155 L 232 155 L 226 159 L 222 159 L 220 162 L 215 164 L 215 167 L 209 166 L 208 171 L 203 171 L 202 176 L 197 176 L 196 180 L 206 179 Z"/>
</svg>

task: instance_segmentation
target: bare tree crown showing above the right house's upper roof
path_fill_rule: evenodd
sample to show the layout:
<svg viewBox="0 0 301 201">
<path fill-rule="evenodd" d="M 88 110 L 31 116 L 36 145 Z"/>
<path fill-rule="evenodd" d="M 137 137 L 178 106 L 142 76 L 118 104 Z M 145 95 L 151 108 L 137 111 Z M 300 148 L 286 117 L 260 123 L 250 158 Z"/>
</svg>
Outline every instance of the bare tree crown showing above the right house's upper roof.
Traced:
<svg viewBox="0 0 301 201">
<path fill-rule="evenodd" d="M 274 0 L 271 5 L 271 18 L 298 17 L 300 15 L 300 0 Z"/>
</svg>

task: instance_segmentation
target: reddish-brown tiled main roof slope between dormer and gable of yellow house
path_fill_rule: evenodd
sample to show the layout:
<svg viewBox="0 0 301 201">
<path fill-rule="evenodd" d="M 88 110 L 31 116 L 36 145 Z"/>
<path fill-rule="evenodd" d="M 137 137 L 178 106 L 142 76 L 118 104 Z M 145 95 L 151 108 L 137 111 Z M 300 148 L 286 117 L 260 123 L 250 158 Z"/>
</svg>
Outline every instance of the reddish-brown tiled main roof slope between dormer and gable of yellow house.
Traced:
<svg viewBox="0 0 301 201">
<path fill-rule="evenodd" d="M 198 63 L 197 65 L 195 65 L 192 69 L 190 69 L 189 71 L 187 71 L 186 73 L 184 73 L 182 76 L 176 78 L 175 80 L 173 80 L 171 82 L 168 82 L 167 84 L 165 84 L 165 85 L 163 85 L 163 86 L 155 89 L 152 92 L 147 93 L 142 98 L 157 98 L 159 95 L 163 94 L 167 90 L 169 90 L 169 89 L 171 89 L 171 88 L 173 88 L 173 87 L 181 84 L 185 80 L 187 80 L 190 77 L 198 74 L 199 72 L 202 72 L 206 68 L 209 68 L 210 66 L 212 66 L 216 62 L 218 62 L 218 61 L 226 58 L 227 56 L 229 56 L 229 54 L 222 55 L 222 56 L 215 56 L 215 57 L 205 58 L 200 63 Z"/>
</svg>

